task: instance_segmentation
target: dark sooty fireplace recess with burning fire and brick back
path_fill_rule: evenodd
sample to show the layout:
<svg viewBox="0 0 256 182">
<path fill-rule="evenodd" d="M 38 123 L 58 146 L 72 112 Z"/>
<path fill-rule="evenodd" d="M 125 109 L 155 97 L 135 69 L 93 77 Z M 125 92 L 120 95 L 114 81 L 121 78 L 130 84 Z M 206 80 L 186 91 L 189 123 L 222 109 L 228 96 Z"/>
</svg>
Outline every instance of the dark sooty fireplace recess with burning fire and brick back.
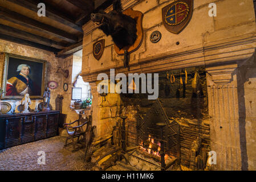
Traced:
<svg viewBox="0 0 256 182">
<path fill-rule="evenodd" d="M 193 88 L 194 81 L 198 81 L 198 95 Z M 160 148 L 164 145 L 165 158 L 181 159 L 182 165 L 195 169 L 191 146 L 200 137 L 201 148 L 197 152 L 203 158 L 203 168 L 206 167 L 210 117 L 204 67 L 159 72 L 157 100 L 148 100 L 147 94 L 121 94 L 120 97 L 125 110 L 122 115 L 136 115 L 125 122 L 128 146 L 138 143 L 143 151 L 160 157 Z M 165 124 L 163 138 L 159 123 Z"/>
</svg>

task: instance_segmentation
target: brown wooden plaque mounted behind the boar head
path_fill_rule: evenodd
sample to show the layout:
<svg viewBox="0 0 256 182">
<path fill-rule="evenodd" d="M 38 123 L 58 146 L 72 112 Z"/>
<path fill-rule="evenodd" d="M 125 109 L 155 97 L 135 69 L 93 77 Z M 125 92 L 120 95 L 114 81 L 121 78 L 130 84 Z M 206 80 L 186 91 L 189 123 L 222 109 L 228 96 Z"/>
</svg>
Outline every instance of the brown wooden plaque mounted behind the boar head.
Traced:
<svg viewBox="0 0 256 182">
<path fill-rule="evenodd" d="M 135 40 L 135 43 L 130 47 L 124 47 L 123 49 L 119 49 L 115 45 L 115 51 L 118 55 L 124 55 L 124 51 L 126 50 L 128 53 L 132 53 L 134 51 L 137 51 L 137 49 L 141 46 L 141 43 L 143 42 L 143 26 L 142 26 L 142 20 L 143 20 L 143 13 L 140 11 L 134 11 L 132 9 L 125 10 L 123 14 L 131 16 L 132 18 L 137 20 L 136 28 L 137 28 L 137 39 Z"/>
</svg>

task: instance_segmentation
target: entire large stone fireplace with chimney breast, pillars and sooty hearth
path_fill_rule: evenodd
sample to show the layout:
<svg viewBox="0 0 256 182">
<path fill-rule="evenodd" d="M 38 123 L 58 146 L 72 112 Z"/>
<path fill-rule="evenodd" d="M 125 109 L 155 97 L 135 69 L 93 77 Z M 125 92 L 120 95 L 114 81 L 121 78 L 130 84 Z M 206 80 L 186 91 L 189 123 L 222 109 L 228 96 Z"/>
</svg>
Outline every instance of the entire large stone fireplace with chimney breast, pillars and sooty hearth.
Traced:
<svg viewBox="0 0 256 182">
<path fill-rule="evenodd" d="M 235 0 L 238 2 L 238 0 Z M 90 82 L 92 89 L 92 122 L 96 126 L 95 140 L 100 142 L 111 137 L 113 127 L 121 120 L 121 115 L 127 115 L 125 119 L 125 131 L 127 147 L 141 147 L 145 153 L 152 155 L 161 148 L 161 137 L 153 131 L 141 135 L 141 123 L 149 122 L 147 128 L 156 125 L 157 118 L 145 119 L 156 108 L 163 112 L 160 123 L 168 125 L 177 124 L 178 133 L 175 147 L 169 146 L 169 155 L 180 159 L 180 163 L 189 168 L 196 169 L 196 164 L 191 159 L 199 154 L 206 164 L 207 152 L 215 151 L 217 163 L 211 166 L 215 170 L 241 170 L 254 169 L 255 159 L 248 156 L 253 149 L 247 150 L 245 133 L 245 117 L 241 107 L 243 103 L 239 96 L 239 84 L 241 84 L 242 72 L 240 69 L 247 65 L 248 60 L 254 60 L 255 52 L 255 19 L 225 16 L 225 13 L 214 18 L 205 18 L 208 13 L 208 4 L 202 1 L 194 1 L 194 13 L 188 26 L 180 34 L 175 35 L 167 31 L 162 24 L 161 9 L 173 1 L 121 1 L 124 9 L 132 8 L 144 14 L 143 28 L 144 39 L 140 48 L 131 53 L 129 69 L 124 68 L 124 56 L 117 55 L 113 48 L 110 36 L 88 22 L 84 25 L 83 39 L 83 80 Z M 238 7 L 230 1 L 216 2 L 217 6 L 230 7 L 234 16 Z M 253 2 L 246 2 L 239 7 L 239 12 L 251 10 L 254 13 Z M 111 10 L 109 7 L 106 11 Z M 225 9 L 226 11 L 226 9 Z M 243 16 L 246 16 L 245 14 Z M 205 23 L 202 23 L 205 22 Z M 222 22 L 225 22 L 222 23 Z M 229 23 L 226 23 L 229 22 Z M 252 28 L 254 27 L 254 28 Z M 149 36 L 153 31 L 160 31 L 162 39 L 153 44 Z M 244 30 L 247 30 L 245 33 Z M 100 39 L 105 39 L 104 53 L 99 61 L 92 55 L 92 45 Z M 131 96 L 117 93 L 109 93 L 104 97 L 97 92 L 97 75 L 105 73 L 109 76 L 109 70 L 115 68 L 115 72 L 124 73 L 159 73 L 159 100 L 149 101 L 140 94 Z M 184 74 L 188 73 L 188 82 L 185 84 Z M 200 96 L 193 93 L 192 81 L 194 73 L 200 72 L 201 91 Z M 167 73 L 169 78 L 166 79 Z M 175 83 L 170 82 L 170 75 L 176 78 Z M 244 83 L 243 81 L 242 83 Z M 173 89 L 173 90 L 172 90 Z M 185 89 L 185 91 L 184 91 Z M 168 95 L 169 93 L 169 95 Z M 199 98 L 199 99 L 198 99 Z M 198 106 L 200 107 L 198 109 Z M 151 121 L 151 123 L 150 123 Z M 152 122 L 153 121 L 153 122 Z M 139 126 L 139 129 L 138 129 Z M 167 129 L 164 129 L 167 132 Z M 174 130 L 176 131 L 176 130 Z M 133 133 L 133 134 L 129 134 Z M 202 147 L 196 153 L 193 144 L 196 144 L 200 135 Z M 152 141 L 152 138 L 154 141 Z M 166 140 L 166 137 L 165 137 Z M 142 143 L 141 143 L 142 142 Z M 149 147 L 151 145 L 151 147 Z M 149 152 L 149 148 L 151 151 Z M 167 145 L 166 145 L 166 148 Z M 153 152 L 153 155 L 155 154 Z M 194 155 L 194 156 L 193 156 Z M 156 155 L 159 157 L 159 155 Z M 160 155 L 161 158 L 161 155 Z"/>
</svg>

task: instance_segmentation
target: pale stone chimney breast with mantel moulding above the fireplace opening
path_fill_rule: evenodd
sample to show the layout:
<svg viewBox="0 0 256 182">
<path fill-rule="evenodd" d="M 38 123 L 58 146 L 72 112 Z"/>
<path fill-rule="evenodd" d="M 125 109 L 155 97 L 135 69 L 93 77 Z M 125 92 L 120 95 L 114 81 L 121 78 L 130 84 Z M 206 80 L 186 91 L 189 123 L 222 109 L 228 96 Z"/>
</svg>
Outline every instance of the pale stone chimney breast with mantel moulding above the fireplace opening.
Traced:
<svg viewBox="0 0 256 182">
<path fill-rule="evenodd" d="M 240 59 L 243 48 L 224 49 L 224 43 L 251 38 L 255 34 L 255 15 L 252 1 L 195 0 L 192 19 L 178 35 L 170 33 L 162 23 L 162 8 L 174 1 L 123 0 L 122 2 L 125 8 L 139 10 L 144 14 L 144 39 L 140 48 L 131 53 L 130 72 L 153 72 L 152 65 L 155 69 L 165 70 L 221 63 L 234 59 L 234 55 Z M 208 6 L 211 2 L 217 5 L 217 17 L 208 15 L 210 10 Z M 229 13 L 226 13 L 227 11 Z M 118 68 L 119 72 L 127 72 L 127 69 L 123 69 L 123 56 L 117 55 L 113 49 L 111 36 L 105 36 L 91 21 L 85 24 L 83 29 L 82 75 L 84 75 L 85 80 L 88 82 L 95 81 L 98 72 L 107 72 L 109 68 Z M 153 44 L 150 42 L 149 36 L 156 30 L 161 32 L 162 38 L 158 43 Z M 103 56 L 97 61 L 92 54 L 92 45 L 100 39 L 105 39 L 105 49 Z M 177 45 L 177 42 L 180 44 Z M 212 47 L 213 45 L 214 47 Z M 219 50 L 221 48 L 223 50 Z M 239 52 L 237 52 L 238 49 L 240 49 Z M 248 54 L 252 51 L 247 50 L 245 52 Z M 213 56 L 214 54 L 221 55 L 216 57 Z M 168 60 L 166 60 L 167 55 L 170 56 Z"/>
</svg>

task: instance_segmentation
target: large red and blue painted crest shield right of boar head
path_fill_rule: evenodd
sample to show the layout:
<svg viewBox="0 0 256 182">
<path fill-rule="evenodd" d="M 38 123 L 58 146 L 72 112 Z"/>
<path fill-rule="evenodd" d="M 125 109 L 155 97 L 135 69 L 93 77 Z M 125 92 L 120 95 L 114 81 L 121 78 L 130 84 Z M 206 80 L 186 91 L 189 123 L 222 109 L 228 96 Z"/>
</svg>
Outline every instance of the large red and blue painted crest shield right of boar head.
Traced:
<svg viewBox="0 0 256 182">
<path fill-rule="evenodd" d="M 165 6 L 162 9 L 165 28 L 174 34 L 179 34 L 192 18 L 193 8 L 193 0 L 176 1 Z"/>
</svg>

